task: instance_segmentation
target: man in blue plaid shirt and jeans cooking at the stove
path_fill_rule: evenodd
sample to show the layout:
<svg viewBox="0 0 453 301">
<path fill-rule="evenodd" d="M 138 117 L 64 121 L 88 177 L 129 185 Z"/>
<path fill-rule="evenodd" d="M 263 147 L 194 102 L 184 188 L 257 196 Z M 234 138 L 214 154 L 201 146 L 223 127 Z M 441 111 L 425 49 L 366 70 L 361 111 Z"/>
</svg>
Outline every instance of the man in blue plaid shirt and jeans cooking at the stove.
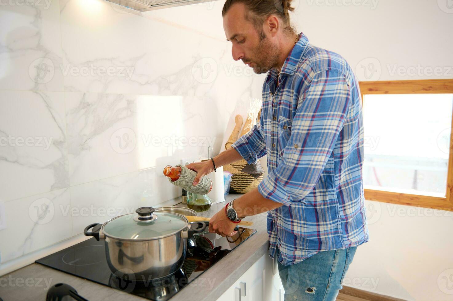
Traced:
<svg viewBox="0 0 453 301">
<path fill-rule="evenodd" d="M 196 185 L 214 165 L 267 154 L 268 176 L 214 215 L 209 231 L 232 236 L 238 220 L 268 211 L 285 300 L 335 300 L 357 246 L 368 241 L 360 91 L 341 56 L 291 28 L 290 1 L 226 1 L 233 59 L 268 72 L 260 122 L 213 162 L 188 167 Z"/>
</svg>

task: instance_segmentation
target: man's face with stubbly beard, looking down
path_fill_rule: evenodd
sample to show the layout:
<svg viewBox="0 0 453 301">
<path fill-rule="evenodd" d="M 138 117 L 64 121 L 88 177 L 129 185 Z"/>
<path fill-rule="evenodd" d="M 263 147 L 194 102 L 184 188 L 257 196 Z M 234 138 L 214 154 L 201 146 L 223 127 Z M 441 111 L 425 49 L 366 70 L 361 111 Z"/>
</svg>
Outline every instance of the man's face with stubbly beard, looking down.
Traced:
<svg viewBox="0 0 453 301">
<path fill-rule="evenodd" d="M 226 39 L 232 43 L 231 53 L 235 61 L 242 60 L 256 74 L 277 67 L 280 48 L 266 34 L 265 26 L 258 33 L 255 26 L 245 19 L 246 7 L 242 3 L 231 5 L 223 17 Z"/>
</svg>

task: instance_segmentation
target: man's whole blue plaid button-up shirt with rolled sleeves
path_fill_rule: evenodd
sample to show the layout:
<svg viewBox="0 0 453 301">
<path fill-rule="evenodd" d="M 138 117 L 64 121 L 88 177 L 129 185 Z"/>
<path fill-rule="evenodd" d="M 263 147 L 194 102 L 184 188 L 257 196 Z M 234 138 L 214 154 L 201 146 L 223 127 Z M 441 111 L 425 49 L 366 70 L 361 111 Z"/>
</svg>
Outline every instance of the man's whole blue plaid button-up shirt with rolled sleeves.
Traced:
<svg viewBox="0 0 453 301">
<path fill-rule="evenodd" d="M 262 196 L 270 257 L 283 265 L 368 241 L 359 86 L 345 59 L 301 35 L 263 84 L 260 122 L 232 145 L 251 164 L 267 155 Z"/>
</svg>

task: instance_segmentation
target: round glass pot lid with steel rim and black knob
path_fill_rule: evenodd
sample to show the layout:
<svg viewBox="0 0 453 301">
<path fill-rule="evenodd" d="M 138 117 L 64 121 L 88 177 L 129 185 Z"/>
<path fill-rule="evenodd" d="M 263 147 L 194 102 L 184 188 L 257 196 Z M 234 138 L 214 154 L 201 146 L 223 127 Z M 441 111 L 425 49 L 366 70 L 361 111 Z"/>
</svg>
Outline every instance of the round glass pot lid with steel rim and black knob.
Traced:
<svg viewBox="0 0 453 301">
<path fill-rule="evenodd" d="M 117 239 L 158 239 L 182 231 L 187 219 L 171 212 L 154 212 L 152 207 L 140 207 L 136 213 L 118 216 L 102 226 L 107 236 Z"/>
</svg>

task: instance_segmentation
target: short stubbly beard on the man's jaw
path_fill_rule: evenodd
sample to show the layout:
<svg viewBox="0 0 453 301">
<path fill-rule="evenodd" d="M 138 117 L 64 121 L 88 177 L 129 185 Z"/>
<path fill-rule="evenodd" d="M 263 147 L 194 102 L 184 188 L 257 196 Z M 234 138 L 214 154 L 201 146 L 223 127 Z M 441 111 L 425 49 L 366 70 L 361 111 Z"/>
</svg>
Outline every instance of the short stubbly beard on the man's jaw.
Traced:
<svg viewBox="0 0 453 301">
<path fill-rule="evenodd" d="M 242 61 L 254 62 L 253 72 L 262 74 L 268 72 L 273 67 L 277 67 L 279 55 L 280 48 L 271 43 L 269 38 L 265 37 L 253 51 L 251 56 L 253 59 L 242 59 Z"/>
</svg>

